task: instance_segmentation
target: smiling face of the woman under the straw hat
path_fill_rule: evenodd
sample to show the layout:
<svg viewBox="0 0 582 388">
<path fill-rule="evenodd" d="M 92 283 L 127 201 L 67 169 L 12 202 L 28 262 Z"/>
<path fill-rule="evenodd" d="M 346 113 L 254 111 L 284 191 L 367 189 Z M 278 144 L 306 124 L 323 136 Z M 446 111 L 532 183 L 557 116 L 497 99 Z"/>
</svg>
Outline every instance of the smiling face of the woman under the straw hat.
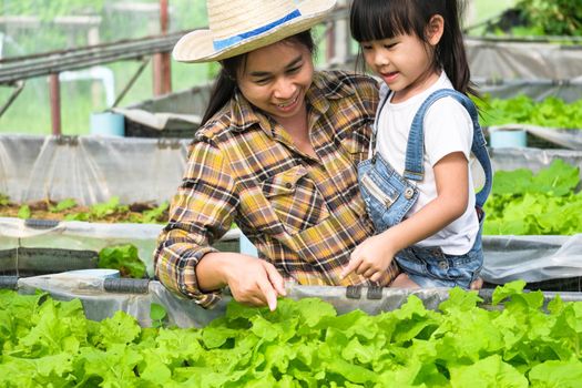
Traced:
<svg viewBox="0 0 582 388">
<path fill-rule="evenodd" d="M 283 41 L 252 51 L 238 73 L 238 89 L 275 120 L 305 114 L 305 93 L 312 84 L 312 53 L 300 43 Z"/>
</svg>

